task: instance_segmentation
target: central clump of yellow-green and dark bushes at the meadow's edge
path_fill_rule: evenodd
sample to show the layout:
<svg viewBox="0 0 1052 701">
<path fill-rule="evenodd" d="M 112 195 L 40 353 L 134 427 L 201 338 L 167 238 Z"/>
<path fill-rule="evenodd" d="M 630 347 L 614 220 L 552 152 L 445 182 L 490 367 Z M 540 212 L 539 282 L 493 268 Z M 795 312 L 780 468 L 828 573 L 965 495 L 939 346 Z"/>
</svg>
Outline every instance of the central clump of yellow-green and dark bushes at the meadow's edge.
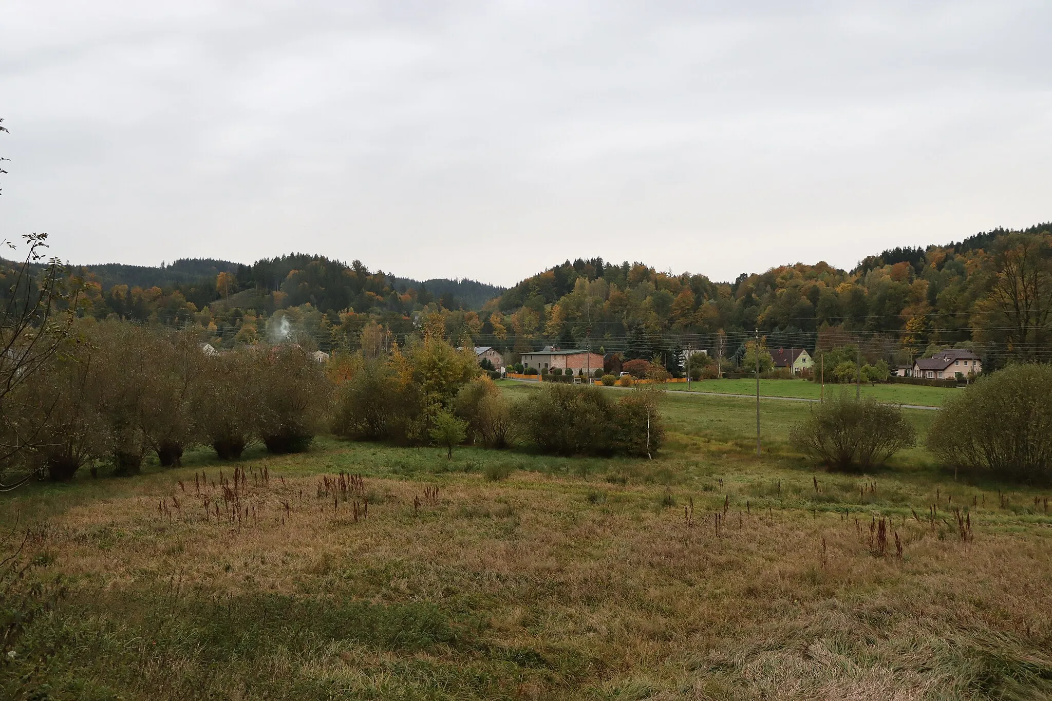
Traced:
<svg viewBox="0 0 1052 701">
<path fill-rule="evenodd" d="M 356 358 L 350 379 L 338 390 L 333 431 L 406 445 L 430 439 L 450 451 L 467 439 L 564 455 L 646 455 L 658 450 L 664 433 L 660 396 L 640 390 L 613 401 L 590 385 L 549 382 L 511 401 L 488 376 L 479 376 L 472 357 L 425 341 L 390 357 Z"/>
</svg>

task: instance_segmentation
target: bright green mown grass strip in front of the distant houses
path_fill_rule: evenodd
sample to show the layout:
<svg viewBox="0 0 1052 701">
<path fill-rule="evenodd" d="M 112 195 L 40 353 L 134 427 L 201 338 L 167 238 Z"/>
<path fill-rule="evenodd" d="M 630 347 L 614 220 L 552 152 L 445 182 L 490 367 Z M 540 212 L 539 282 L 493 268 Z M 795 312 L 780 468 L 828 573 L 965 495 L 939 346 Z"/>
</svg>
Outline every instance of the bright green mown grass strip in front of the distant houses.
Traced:
<svg viewBox="0 0 1052 701">
<path fill-rule="evenodd" d="M 686 384 L 675 383 L 668 385 L 669 390 L 685 392 Z M 755 394 L 755 379 L 706 379 L 699 383 L 690 383 L 690 390 L 693 392 L 717 392 L 720 394 Z M 947 396 L 952 396 L 954 392 L 962 390 L 944 387 L 925 387 L 923 385 L 868 385 L 861 387 L 863 396 L 871 396 L 879 401 L 891 404 L 908 404 L 923 407 L 939 407 Z M 801 397 L 806 399 L 817 399 L 822 395 L 821 384 L 806 382 L 803 379 L 761 379 L 761 396 L 775 397 Z M 854 385 L 833 385 L 827 384 L 825 388 L 827 396 L 835 392 L 849 392 L 852 396 L 855 392 Z"/>
</svg>

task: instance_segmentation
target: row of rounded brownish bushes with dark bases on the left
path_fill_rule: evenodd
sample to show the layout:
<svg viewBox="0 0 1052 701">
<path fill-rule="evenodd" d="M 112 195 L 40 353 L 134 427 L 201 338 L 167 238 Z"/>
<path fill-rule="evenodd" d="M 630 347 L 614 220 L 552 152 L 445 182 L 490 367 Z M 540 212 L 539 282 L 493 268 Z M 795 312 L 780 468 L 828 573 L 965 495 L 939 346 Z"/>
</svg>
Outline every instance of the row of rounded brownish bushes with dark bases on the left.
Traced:
<svg viewBox="0 0 1052 701">
<path fill-rule="evenodd" d="M 135 474 L 156 454 L 178 466 L 208 445 L 223 459 L 256 441 L 271 452 L 305 449 L 323 428 L 330 384 L 296 346 L 208 354 L 193 334 L 117 321 L 84 325 L 8 397 L 8 444 L 52 479 L 88 462 Z"/>
</svg>

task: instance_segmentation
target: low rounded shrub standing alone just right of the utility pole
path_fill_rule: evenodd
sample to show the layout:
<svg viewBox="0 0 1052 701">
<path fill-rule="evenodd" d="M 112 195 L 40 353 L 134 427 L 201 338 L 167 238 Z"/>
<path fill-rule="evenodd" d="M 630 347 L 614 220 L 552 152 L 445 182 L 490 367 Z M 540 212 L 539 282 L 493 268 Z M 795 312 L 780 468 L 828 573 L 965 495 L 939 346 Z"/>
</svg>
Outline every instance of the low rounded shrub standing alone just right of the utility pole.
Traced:
<svg viewBox="0 0 1052 701">
<path fill-rule="evenodd" d="M 812 406 L 811 416 L 790 430 L 789 440 L 830 468 L 865 470 L 912 447 L 916 437 L 898 407 L 844 393 Z"/>
</svg>

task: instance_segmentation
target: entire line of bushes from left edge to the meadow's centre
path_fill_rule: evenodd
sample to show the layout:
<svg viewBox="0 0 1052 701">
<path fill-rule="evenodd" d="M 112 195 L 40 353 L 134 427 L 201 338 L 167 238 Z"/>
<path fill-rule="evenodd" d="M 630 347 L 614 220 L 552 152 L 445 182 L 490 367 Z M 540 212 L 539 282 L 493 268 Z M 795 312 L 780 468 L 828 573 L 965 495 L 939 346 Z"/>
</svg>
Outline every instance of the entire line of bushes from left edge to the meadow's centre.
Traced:
<svg viewBox="0 0 1052 701">
<path fill-rule="evenodd" d="M 612 401 L 596 388 L 545 384 L 512 404 L 469 351 L 427 338 L 328 364 L 296 344 L 217 353 L 197 334 L 119 321 L 85 323 L 5 399 L 2 431 L 21 466 L 56 480 L 87 465 L 141 471 L 156 455 L 179 466 L 211 447 L 224 460 L 263 444 L 306 450 L 331 429 L 356 439 L 488 448 L 526 442 L 563 454 L 642 455 L 662 428 L 656 393 Z M 5 466 L 13 467 L 13 466 Z"/>
</svg>

